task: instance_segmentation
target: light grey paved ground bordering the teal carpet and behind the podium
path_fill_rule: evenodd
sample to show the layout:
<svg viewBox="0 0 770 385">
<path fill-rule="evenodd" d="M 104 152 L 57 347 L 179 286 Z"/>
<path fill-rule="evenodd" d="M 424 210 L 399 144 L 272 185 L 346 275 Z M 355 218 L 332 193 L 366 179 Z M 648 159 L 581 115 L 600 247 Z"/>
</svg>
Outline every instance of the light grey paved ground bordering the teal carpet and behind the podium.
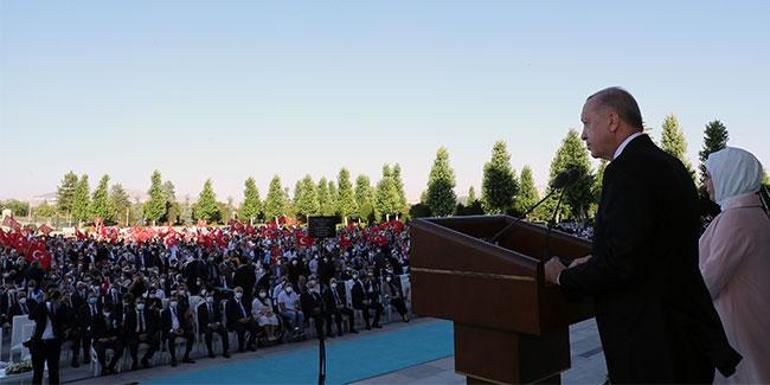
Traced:
<svg viewBox="0 0 770 385">
<path fill-rule="evenodd" d="M 393 323 L 380 330 L 367 331 L 365 333 L 387 333 L 396 328 L 409 327 L 424 322 L 432 322 L 430 318 L 414 319 L 409 324 Z M 343 339 L 356 338 L 355 335 L 346 335 Z M 338 337 L 339 339 L 339 337 Z M 570 341 L 572 347 L 572 368 L 564 373 L 565 384 L 601 384 L 604 382 L 606 368 L 604 356 L 601 351 L 596 324 L 593 320 L 573 325 L 570 328 Z M 269 357 L 300 347 L 314 346 L 315 340 L 308 340 L 294 344 L 284 344 L 276 347 L 259 349 L 255 353 L 234 354 L 230 359 L 216 357 L 214 359 L 197 359 L 193 365 L 181 364 L 176 368 L 168 365 L 150 369 L 142 369 L 135 372 L 125 372 L 108 377 L 92 377 L 87 365 L 80 368 L 71 368 L 69 365 L 62 368 L 62 383 L 76 385 L 96 384 L 135 384 L 153 378 L 165 377 L 174 373 L 190 369 L 203 369 L 237 361 L 250 360 L 258 357 Z M 205 348 L 204 348 L 205 350 Z M 22 375 L 15 378 L 0 378 L 0 384 L 22 385 L 31 383 L 31 375 Z M 244 379 L 248 383 L 248 379 Z M 454 373 L 454 357 L 416 365 L 397 372 L 385 374 L 360 381 L 357 384 L 464 384 L 465 377 Z"/>
</svg>

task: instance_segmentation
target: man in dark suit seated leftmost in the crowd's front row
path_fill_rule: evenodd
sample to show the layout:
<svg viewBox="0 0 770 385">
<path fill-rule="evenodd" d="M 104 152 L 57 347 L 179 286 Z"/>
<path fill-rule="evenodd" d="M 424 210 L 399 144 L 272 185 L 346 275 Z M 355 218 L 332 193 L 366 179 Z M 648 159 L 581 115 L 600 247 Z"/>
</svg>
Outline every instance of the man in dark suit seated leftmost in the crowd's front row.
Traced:
<svg viewBox="0 0 770 385">
<path fill-rule="evenodd" d="M 120 318 L 112 311 L 112 305 L 102 305 L 102 313 L 93 319 L 93 343 L 96 357 L 102 366 L 102 375 L 115 373 L 115 365 L 123 356 L 123 341 L 121 341 Z M 112 350 L 113 355 L 107 364 L 107 350 Z"/>
</svg>

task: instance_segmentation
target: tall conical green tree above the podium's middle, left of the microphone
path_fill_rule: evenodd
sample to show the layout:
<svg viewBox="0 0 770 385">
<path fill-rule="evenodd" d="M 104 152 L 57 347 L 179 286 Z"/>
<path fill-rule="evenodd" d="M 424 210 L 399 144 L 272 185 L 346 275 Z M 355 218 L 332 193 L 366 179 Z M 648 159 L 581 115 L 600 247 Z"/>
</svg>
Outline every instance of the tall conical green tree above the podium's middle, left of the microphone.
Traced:
<svg viewBox="0 0 770 385">
<path fill-rule="evenodd" d="M 505 213 L 512 208 L 518 192 L 516 173 L 511 167 L 511 155 L 504 141 L 492 147 L 492 159 L 484 165 L 481 184 L 481 204 L 490 214 Z"/>
</svg>

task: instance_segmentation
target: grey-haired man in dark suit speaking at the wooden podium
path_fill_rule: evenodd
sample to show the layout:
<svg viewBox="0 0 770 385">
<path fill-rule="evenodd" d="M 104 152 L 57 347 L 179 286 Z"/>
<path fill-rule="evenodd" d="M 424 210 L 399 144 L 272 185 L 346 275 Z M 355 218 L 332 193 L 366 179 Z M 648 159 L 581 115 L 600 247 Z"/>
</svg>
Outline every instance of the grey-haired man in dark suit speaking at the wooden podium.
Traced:
<svg viewBox="0 0 770 385">
<path fill-rule="evenodd" d="M 740 361 L 698 269 L 698 200 L 682 163 L 643 134 L 634 98 L 608 88 L 588 98 L 582 138 L 604 171 L 592 256 L 546 279 L 595 300 L 612 383 L 711 383 Z"/>
</svg>

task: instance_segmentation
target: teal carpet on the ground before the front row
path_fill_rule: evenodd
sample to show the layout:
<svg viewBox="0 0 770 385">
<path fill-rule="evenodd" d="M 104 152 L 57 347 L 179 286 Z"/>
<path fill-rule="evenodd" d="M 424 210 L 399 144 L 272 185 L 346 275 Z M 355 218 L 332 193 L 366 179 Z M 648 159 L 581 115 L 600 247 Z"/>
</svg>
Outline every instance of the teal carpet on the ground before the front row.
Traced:
<svg viewBox="0 0 770 385">
<path fill-rule="evenodd" d="M 452 323 L 433 321 L 345 340 L 327 340 L 326 383 L 360 381 L 454 355 Z M 314 384 L 318 346 L 153 379 L 160 384 Z"/>
</svg>

